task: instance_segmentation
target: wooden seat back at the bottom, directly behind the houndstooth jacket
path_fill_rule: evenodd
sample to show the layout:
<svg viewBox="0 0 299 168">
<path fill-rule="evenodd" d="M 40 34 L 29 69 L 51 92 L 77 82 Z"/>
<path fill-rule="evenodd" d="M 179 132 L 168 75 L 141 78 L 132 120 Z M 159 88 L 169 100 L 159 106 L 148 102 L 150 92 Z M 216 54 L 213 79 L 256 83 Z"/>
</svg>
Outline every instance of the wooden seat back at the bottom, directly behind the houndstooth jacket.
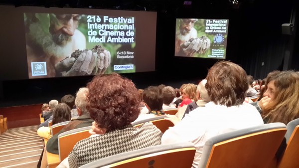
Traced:
<svg viewBox="0 0 299 168">
<path fill-rule="evenodd" d="M 113 155 L 80 168 L 191 168 L 194 155 L 191 142 L 157 145 Z"/>
</svg>

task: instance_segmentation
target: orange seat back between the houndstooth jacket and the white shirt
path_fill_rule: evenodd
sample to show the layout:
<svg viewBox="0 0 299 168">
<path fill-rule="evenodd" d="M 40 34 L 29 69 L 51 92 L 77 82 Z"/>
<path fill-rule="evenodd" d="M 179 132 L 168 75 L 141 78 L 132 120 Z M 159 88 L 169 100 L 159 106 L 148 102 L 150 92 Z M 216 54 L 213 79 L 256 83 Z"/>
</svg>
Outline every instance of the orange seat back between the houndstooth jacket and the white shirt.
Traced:
<svg viewBox="0 0 299 168">
<path fill-rule="evenodd" d="M 166 130 L 168 130 L 169 127 L 173 127 L 173 123 L 171 121 L 165 120 L 165 116 L 158 116 L 158 117 L 153 117 L 137 122 L 133 122 L 132 125 L 134 127 L 139 127 L 143 125 L 146 122 L 151 122 L 153 125 L 155 125 L 162 133 L 164 133 Z"/>
</svg>

